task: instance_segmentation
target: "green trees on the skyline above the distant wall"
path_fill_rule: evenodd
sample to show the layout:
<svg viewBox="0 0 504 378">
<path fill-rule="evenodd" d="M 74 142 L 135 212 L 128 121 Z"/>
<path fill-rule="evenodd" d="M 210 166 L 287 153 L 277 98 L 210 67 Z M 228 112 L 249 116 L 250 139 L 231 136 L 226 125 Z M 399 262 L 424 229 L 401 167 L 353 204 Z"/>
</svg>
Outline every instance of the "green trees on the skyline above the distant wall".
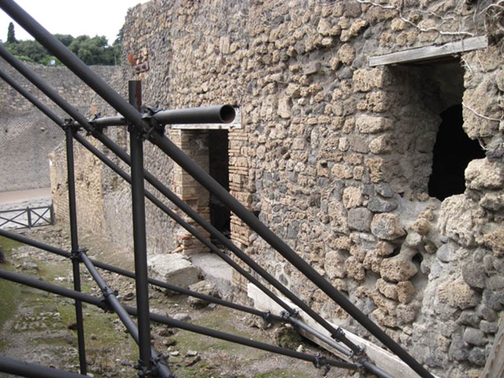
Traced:
<svg viewBox="0 0 504 378">
<path fill-rule="evenodd" d="M 70 34 L 54 34 L 54 36 L 88 66 L 103 65 L 113 66 L 120 63 L 122 49 L 122 28 L 117 38 L 108 45 L 105 36 L 90 37 L 80 35 L 76 38 Z M 11 22 L 7 31 L 7 42 L 2 43 L 18 59 L 40 63 L 46 66 L 61 66 L 61 62 L 40 43 L 35 40 L 18 41 Z"/>
</svg>

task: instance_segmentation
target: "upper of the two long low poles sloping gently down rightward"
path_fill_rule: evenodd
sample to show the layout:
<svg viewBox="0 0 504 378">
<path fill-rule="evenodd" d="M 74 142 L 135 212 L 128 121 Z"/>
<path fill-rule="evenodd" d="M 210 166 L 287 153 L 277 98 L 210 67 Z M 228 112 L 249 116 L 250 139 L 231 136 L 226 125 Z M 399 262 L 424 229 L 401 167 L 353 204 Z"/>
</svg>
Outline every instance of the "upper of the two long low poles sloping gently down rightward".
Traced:
<svg viewBox="0 0 504 378">
<path fill-rule="evenodd" d="M 56 254 L 56 255 L 59 255 L 59 256 L 62 256 L 62 257 L 66 257 L 66 258 L 69 258 L 69 259 L 72 257 L 72 254 L 70 252 L 64 250 L 64 249 L 53 247 L 51 245 L 48 245 L 48 244 L 45 244 L 45 243 L 42 243 L 42 242 L 30 239 L 30 238 L 27 238 L 26 236 L 18 235 L 18 234 L 13 233 L 13 232 L 9 232 L 9 231 L 0 229 L 0 236 L 5 236 L 5 237 L 7 237 L 7 238 L 9 238 L 11 240 L 16 240 L 16 241 L 19 241 L 21 243 L 24 243 L 24 244 L 27 244 L 27 245 L 31 245 L 33 247 L 45 250 L 47 252 L 50 252 L 50 253 L 53 253 L 53 254 Z M 133 273 L 131 271 L 128 271 L 128 270 L 125 270 L 125 269 L 122 269 L 122 268 L 118 268 L 118 267 L 115 267 L 113 265 L 105 264 L 105 263 L 102 263 L 100 261 L 93 260 L 93 259 L 90 259 L 90 261 L 97 268 L 106 270 L 108 272 L 116 273 L 116 274 L 119 274 L 119 275 L 124 276 L 124 277 L 129 277 L 129 278 L 135 279 L 135 273 Z M 220 304 L 222 306 L 226 306 L 226 307 L 233 308 L 233 309 L 236 309 L 236 310 L 239 310 L 239 311 L 247 312 L 247 313 L 259 316 L 259 317 L 264 318 L 264 319 L 271 319 L 274 322 L 280 322 L 281 321 L 281 317 L 279 317 L 277 315 L 274 315 L 274 314 L 270 314 L 269 312 L 261 311 L 261 310 L 258 310 L 257 308 L 243 306 L 243 305 L 237 304 L 237 303 L 232 303 L 232 302 L 226 301 L 224 299 L 216 298 L 216 297 L 213 297 L 213 296 L 210 296 L 210 295 L 207 295 L 207 294 L 198 293 L 196 291 L 192 291 L 192 290 L 189 290 L 189 289 L 184 289 L 182 287 L 171 285 L 169 283 L 166 283 L 166 282 L 163 282 L 163 281 L 159 281 L 159 280 L 156 280 L 156 279 L 153 279 L 153 278 L 149 278 L 149 283 L 152 284 L 152 285 L 158 286 L 160 288 L 171 290 L 171 291 L 183 294 L 183 295 L 192 296 L 192 297 L 195 297 L 195 298 L 206 300 L 207 302 L 211 302 L 211 303 L 215 303 L 215 304 Z"/>
</svg>

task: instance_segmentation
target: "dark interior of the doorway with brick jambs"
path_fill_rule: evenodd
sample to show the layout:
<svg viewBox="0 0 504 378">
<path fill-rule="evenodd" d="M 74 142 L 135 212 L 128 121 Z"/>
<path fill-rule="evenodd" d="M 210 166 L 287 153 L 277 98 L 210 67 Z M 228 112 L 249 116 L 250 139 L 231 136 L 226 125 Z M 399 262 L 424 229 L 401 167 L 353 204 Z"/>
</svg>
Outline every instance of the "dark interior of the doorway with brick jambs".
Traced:
<svg viewBox="0 0 504 378">
<path fill-rule="evenodd" d="M 227 130 L 210 130 L 208 132 L 210 175 L 227 191 L 229 191 L 228 142 Z M 210 223 L 228 238 L 230 237 L 230 217 L 229 209 L 210 194 Z M 216 243 L 213 238 L 212 242 Z"/>
</svg>

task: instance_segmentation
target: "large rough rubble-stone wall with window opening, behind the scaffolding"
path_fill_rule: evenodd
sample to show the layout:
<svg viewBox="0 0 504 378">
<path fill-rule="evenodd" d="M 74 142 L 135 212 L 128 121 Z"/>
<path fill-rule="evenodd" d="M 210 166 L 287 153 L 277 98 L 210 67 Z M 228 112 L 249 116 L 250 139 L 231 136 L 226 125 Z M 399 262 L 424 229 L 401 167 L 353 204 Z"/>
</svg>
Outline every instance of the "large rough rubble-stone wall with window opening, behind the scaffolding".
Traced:
<svg viewBox="0 0 504 378">
<path fill-rule="evenodd" d="M 229 132 L 231 193 L 420 362 L 442 376 L 478 376 L 504 305 L 495 9 L 379 3 L 154 0 L 124 25 L 125 53 L 150 70 L 126 64 L 123 80 L 142 79 L 144 103 L 160 108 L 240 106 L 242 129 Z M 488 48 L 455 63 L 368 65 L 372 55 L 485 34 Z M 468 165 L 464 193 L 441 202 L 427 194 L 439 114 L 462 103 L 463 128 L 486 158 Z M 124 131 L 114 133 L 126 143 Z M 184 135 L 169 132 L 181 144 Z M 148 169 L 176 190 L 178 170 L 156 148 L 145 151 Z M 131 245 L 118 236 L 131 235 L 128 188 L 108 173 L 101 179 L 105 229 Z M 148 207 L 147 217 L 150 253 L 186 238 L 159 211 Z M 231 232 L 313 308 L 357 330 L 236 219 Z"/>
</svg>

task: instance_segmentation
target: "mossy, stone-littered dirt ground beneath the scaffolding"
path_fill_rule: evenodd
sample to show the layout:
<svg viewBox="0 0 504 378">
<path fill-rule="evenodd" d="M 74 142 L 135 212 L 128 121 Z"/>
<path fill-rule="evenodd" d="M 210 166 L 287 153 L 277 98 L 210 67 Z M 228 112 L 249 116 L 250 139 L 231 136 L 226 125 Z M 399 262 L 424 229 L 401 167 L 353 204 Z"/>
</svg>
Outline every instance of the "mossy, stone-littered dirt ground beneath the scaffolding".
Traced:
<svg viewBox="0 0 504 378">
<path fill-rule="evenodd" d="M 20 231 L 17 231 L 20 233 Z M 21 231 L 28 237 L 70 249 L 68 230 L 59 226 Z M 133 256 L 93 235 L 80 235 L 79 243 L 97 260 L 132 269 Z M 45 282 L 72 288 L 70 260 L 0 237 L 6 253 L 0 269 L 37 277 Z M 101 292 L 81 265 L 83 291 L 100 296 Z M 101 271 L 105 281 L 119 292 L 119 300 L 136 305 L 134 281 Z M 73 300 L 0 280 L 0 354 L 33 363 L 78 372 L 77 333 Z M 278 326 L 262 329 L 261 324 L 244 313 L 226 307 L 208 305 L 194 309 L 185 296 L 167 296 L 150 288 L 152 312 L 167 316 L 187 314 L 190 322 L 233 333 L 242 337 L 275 343 Z M 94 377 L 134 377 L 138 349 L 115 314 L 84 304 L 85 343 L 89 375 Z M 238 344 L 212 339 L 183 330 L 152 325 L 152 344 L 159 353 L 169 355 L 170 369 L 179 378 L 307 378 L 322 376 L 310 362 L 279 356 Z M 278 339 L 278 338 L 277 338 Z M 318 348 L 305 340 L 292 348 L 314 354 Z M 358 376 L 355 374 L 354 376 Z M 7 374 L 0 376 L 9 376 Z M 332 368 L 328 377 L 345 377 L 347 372 Z"/>
</svg>

